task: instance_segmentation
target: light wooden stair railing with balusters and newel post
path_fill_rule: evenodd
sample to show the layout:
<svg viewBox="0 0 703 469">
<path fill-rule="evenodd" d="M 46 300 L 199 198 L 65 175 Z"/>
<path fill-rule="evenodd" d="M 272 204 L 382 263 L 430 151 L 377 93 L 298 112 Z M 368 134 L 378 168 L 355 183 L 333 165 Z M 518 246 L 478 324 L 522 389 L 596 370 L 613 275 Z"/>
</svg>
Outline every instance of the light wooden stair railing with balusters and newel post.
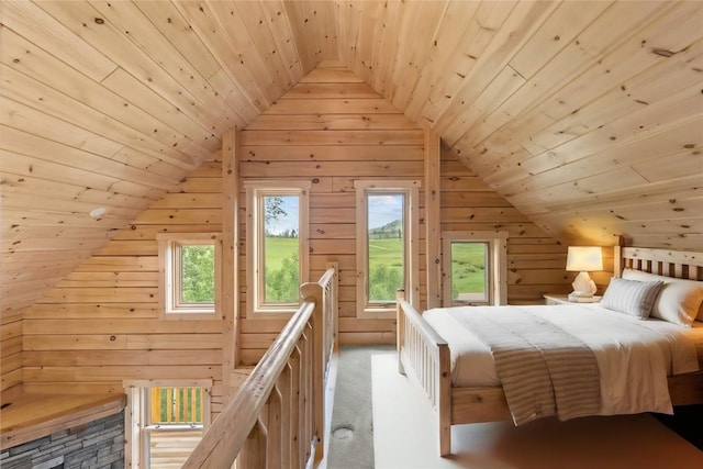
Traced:
<svg viewBox="0 0 703 469">
<path fill-rule="evenodd" d="M 185 468 L 304 468 L 323 456 L 325 384 L 335 346 L 337 276 L 300 288 L 303 303 Z"/>
</svg>

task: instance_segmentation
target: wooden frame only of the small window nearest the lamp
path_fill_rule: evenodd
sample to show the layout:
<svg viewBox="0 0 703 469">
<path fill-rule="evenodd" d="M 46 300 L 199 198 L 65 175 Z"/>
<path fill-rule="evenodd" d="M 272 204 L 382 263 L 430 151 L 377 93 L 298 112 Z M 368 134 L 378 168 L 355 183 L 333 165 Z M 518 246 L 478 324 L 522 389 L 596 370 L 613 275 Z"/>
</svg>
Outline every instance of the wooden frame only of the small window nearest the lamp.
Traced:
<svg viewBox="0 0 703 469">
<path fill-rule="evenodd" d="M 505 231 L 442 232 L 443 306 L 507 304 L 507 235 Z M 488 301 L 455 301 L 451 298 L 451 243 L 456 242 L 488 245 Z"/>
</svg>

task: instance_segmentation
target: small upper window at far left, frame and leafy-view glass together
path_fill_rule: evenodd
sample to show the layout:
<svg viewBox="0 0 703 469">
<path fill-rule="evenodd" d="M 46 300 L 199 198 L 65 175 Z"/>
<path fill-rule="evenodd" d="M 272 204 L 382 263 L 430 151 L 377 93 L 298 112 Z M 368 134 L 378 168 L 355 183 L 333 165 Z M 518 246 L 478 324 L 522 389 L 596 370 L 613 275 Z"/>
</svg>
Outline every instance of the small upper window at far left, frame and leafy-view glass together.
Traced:
<svg viewBox="0 0 703 469">
<path fill-rule="evenodd" d="M 158 234 L 160 299 L 164 317 L 216 317 L 219 308 L 219 234 Z"/>
</svg>

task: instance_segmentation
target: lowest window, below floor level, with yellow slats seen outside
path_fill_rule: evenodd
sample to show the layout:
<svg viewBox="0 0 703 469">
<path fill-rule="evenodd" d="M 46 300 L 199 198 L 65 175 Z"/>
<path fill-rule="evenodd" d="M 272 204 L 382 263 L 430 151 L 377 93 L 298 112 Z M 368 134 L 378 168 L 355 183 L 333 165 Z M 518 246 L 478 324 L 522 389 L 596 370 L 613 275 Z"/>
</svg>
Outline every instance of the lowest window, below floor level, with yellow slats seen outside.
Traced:
<svg viewBox="0 0 703 469">
<path fill-rule="evenodd" d="M 181 467 L 210 425 L 211 380 L 127 381 L 125 467 Z"/>
</svg>

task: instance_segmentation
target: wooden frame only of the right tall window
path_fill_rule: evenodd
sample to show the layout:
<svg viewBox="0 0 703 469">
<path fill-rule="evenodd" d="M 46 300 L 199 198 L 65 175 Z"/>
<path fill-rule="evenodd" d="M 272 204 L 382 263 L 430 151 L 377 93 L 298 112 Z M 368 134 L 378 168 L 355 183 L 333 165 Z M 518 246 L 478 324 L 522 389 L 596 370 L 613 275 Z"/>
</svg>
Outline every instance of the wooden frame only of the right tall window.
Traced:
<svg viewBox="0 0 703 469">
<path fill-rule="evenodd" d="M 368 301 L 368 194 L 404 194 L 404 289 L 405 299 L 414 308 L 420 302 L 420 188 L 416 179 L 360 179 L 354 181 L 356 191 L 356 316 L 358 319 L 395 317 L 395 301 L 387 304 Z"/>
</svg>

